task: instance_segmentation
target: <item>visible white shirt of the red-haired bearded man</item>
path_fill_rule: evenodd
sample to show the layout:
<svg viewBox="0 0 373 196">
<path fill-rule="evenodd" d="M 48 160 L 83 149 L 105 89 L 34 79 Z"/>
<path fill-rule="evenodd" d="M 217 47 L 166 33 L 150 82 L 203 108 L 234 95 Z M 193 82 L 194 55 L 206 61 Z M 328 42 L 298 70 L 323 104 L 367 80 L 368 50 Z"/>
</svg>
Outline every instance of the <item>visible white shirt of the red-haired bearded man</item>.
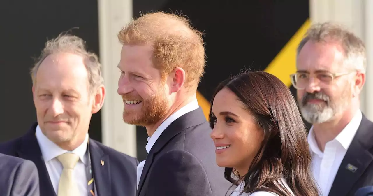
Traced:
<svg viewBox="0 0 373 196">
<path fill-rule="evenodd" d="M 169 116 L 165 121 L 162 122 L 162 124 L 156 129 L 156 131 L 153 133 L 151 137 L 148 137 L 148 143 L 145 146 L 146 152 L 150 152 L 151 148 L 153 147 L 154 143 L 156 143 L 159 136 L 163 133 L 163 131 L 170 125 L 173 121 L 180 118 L 182 115 L 194 111 L 198 109 L 200 106 L 198 105 L 197 99 L 194 99 L 192 102 L 188 103 L 184 107 L 180 108 L 178 111 L 173 113 L 171 116 Z M 140 177 L 142 173 L 142 169 L 144 168 L 145 161 L 141 161 L 140 164 L 137 166 L 137 187 L 140 183 Z"/>
</svg>

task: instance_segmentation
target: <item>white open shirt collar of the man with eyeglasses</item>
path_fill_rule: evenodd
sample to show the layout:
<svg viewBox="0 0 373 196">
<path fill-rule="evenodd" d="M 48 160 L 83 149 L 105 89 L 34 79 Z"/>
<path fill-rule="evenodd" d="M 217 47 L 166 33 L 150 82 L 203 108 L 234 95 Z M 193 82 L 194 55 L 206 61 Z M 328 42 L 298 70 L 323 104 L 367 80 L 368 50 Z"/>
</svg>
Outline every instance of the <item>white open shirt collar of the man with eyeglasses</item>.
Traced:
<svg viewBox="0 0 373 196">
<path fill-rule="evenodd" d="M 354 136 L 356 134 L 357 129 L 360 126 L 361 119 L 363 118 L 363 115 L 360 110 L 358 110 L 354 117 L 351 119 L 351 121 L 346 125 L 346 127 L 339 133 L 335 139 L 332 141 L 338 141 L 345 150 L 350 147 L 350 144 L 352 142 L 352 139 L 354 139 Z M 310 145 L 310 150 L 317 155 L 322 155 L 323 153 L 319 149 L 316 143 L 316 139 L 313 133 L 313 126 L 310 129 L 310 133 L 307 137 L 308 144 Z M 330 141 L 329 141 L 330 142 Z"/>
</svg>

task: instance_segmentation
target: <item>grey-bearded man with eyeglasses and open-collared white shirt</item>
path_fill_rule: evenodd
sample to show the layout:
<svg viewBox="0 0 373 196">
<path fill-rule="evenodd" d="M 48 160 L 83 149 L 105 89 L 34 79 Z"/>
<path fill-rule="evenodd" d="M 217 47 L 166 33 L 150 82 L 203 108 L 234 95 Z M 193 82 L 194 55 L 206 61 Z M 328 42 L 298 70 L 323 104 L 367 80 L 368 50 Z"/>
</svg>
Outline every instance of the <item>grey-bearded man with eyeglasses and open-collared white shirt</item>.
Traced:
<svg viewBox="0 0 373 196">
<path fill-rule="evenodd" d="M 313 25 L 291 75 L 303 118 L 312 124 L 312 172 L 323 196 L 353 196 L 373 185 L 373 123 L 360 111 L 363 41 L 339 25 Z"/>
</svg>

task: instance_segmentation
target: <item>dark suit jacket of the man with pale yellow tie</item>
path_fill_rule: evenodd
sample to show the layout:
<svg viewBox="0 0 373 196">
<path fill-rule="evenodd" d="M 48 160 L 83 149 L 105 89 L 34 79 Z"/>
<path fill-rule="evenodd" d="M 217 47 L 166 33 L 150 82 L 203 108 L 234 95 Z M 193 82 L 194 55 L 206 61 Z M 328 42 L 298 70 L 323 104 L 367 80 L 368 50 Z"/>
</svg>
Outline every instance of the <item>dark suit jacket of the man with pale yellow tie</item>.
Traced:
<svg viewBox="0 0 373 196">
<path fill-rule="evenodd" d="M 36 127 L 35 123 L 24 136 L 0 144 L 0 153 L 34 162 L 39 173 L 40 196 L 56 196 L 35 136 Z M 95 192 L 98 196 L 134 196 L 137 186 L 137 159 L 93 139 L 90 139 L 89 147 L 97 189 Z M 101 165 L 101 160 L 104 161 L 104 165 Z"/>
</svg>

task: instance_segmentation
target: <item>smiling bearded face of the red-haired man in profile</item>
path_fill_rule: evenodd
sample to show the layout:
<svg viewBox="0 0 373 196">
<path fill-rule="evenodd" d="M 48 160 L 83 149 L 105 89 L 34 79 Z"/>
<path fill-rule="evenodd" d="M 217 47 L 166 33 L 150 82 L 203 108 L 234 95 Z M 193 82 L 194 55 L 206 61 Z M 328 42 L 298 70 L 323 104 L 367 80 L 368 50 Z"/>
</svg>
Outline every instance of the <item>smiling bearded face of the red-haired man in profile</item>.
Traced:
<svg viewBox="0 0 373 196">
<path fill-rule="evenodd" d="M 162 119 L 170 109 L 170 90 L 153 65 L 153 47 L 123 45 L 118 68 L 123 121 L 146 126 Z"/>
</svg>

